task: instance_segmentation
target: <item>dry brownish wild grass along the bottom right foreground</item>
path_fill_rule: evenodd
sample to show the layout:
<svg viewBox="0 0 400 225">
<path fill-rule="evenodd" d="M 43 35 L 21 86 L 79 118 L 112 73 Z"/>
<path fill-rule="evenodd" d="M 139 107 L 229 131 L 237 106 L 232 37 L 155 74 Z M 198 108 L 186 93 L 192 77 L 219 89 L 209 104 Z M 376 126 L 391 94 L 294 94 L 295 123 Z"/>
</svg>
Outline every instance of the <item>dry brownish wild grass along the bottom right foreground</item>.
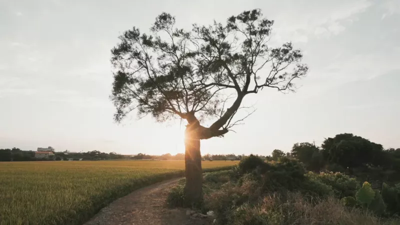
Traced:
<svg viewBox="0 0 400 225">
<path fill-rule="evenodd" d="M 299 192 L 271 192 L 257 203 L 244 203 L 231 209 L 227 223 L 219 224 L 398 224 L 399 220 L 382 221 L 368 211 L 346 208 L 334 197 L 304 198 Z"/>
</svg>

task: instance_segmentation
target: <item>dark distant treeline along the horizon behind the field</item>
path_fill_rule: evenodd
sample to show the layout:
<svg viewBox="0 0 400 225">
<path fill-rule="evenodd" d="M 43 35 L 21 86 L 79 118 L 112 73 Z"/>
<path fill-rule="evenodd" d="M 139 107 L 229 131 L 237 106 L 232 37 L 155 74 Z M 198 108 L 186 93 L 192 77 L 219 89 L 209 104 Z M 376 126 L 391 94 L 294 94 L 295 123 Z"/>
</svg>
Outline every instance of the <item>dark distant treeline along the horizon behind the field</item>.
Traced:
<svg viewBox="0 0 400 225">
<path fill-rule="evenodd" d="M 244 154 L 205 154 L 202 160 L 240 160 Z M 282 156 L 296 158 L 308 170 L 346 171 L 351 173 L 354 168 L 377 168 L 400 171 L 400 148 L 384 149 L 381 144 L 374 143 L 351 133 L 341 133 L 326 138 L 321 146 L 313 143 L 295 143 L 290 152 L 275 149 L 271 155 L 257 155 L 266 160 L 278 160 Z M 162 155 L 121 155 L 115 152 L 104 153 L 97 150 L 87 152 L 54 152 L 54 156 L 34 158 L 34 151 L 23 151 L 19 148 L 0 149 L 0 161 L 29 160 L 106 160 L 106 159 L 147 159 L 147 160 L 184 160 L 184 154 L 169 153 Z"/>
</svg>

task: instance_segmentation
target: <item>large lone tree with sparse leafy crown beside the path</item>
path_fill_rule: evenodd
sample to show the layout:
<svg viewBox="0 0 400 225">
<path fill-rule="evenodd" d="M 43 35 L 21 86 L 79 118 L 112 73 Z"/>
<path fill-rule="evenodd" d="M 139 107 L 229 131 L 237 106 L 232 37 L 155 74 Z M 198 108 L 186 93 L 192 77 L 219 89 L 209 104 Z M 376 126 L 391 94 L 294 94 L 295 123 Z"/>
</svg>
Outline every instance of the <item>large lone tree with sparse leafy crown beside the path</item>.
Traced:
<svg viewBox="0 0 400 225">
<path fill-rule="evenodd" d="M 188 31 L 176 28 L 175 18 L 163 12 L 150 34 L 133 27 L 111 49 L 115 121 L 133 110 L 139 117 L 150 114 L 157 121 L 187 121 L 184 193 L 188 202 L 202 198 L 200 139 L 223 136 L 241 124 L 253 112 L 235 116 L 248 109 L 242 106 L 246 95 L 264 87 L 293 91 L 293 80 L 308 70 L 301 63 L 301 51 L 290 42 L 269 46 L 272 24 L 253 9 L 230 16 L 225 24 L 193 24 Z M 213 122 L 204 126 L 205 121 Z"/>
</svg>

